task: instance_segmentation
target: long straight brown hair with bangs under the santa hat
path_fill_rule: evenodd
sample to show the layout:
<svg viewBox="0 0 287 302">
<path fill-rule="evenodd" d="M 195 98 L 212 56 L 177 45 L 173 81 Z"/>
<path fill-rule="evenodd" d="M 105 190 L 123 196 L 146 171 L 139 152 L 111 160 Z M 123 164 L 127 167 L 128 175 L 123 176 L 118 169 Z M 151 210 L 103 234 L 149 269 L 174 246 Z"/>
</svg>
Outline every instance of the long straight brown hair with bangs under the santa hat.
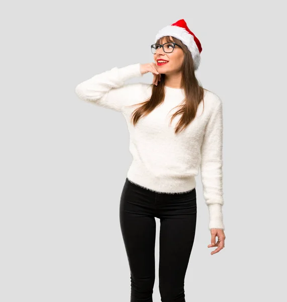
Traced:
<svg viewBox="0 0 287 302">
<path fill-rule="evenodd" d="M 182 77 L 180 87 L 184 89 L 185 102 L 183 102 L 183 104 L 179 106 L 180 109 L 176 111 L 170 119 L 171 123 L 176 115 L 182 114 L 181 118 L 177 122 L 177 126 L 174 131 L 175 133 L 178 133 L 179 131 L 182 131 L 196 117 L 198 106 L 200 102 L 204 99 L 204 88 L 200 86 L 199 81 L 196 78 L 194 61 L 192 55 L 190 55 L 190 51 L 188 50 L 188 48 L 180 40 L 170 36 L 162 37 L 158 39 L 156 43 L 162 44 L 164 41 L 175 42 L 179 44 L 184 52 L 184 59 L 181 66 Z M 155 109 L 164 101 L 164 79 L 165 74 L 161 74 L 161 78 L 157 86 L 151 84 L 151 97 L 142 103 L 135 104 L 141 106 L 135 109 L 132 113 L 131 121 L 133 125 L 136 125 L 140 118 L 148 115 L 153 109 Z"/>
</svg>

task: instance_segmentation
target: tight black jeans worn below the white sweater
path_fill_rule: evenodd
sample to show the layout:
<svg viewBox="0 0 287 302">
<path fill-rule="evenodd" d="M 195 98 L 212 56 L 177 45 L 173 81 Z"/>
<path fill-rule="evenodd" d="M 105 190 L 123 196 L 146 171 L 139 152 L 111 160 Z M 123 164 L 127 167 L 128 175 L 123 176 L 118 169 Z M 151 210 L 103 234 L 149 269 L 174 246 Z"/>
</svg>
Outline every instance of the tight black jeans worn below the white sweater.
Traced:
<svg viewBox="0 0 287 302">
<path fill-rule="evenodd" d="M 196 188 L 175 194 L 160 193 L 127 178 L 120 201 L 120 225 L 131 272 L 130 302 L 152 302 L 155 217 L 160 219 L 161 301 L 185 302 L 184 277 L 196 232 Z"/>
</svg>

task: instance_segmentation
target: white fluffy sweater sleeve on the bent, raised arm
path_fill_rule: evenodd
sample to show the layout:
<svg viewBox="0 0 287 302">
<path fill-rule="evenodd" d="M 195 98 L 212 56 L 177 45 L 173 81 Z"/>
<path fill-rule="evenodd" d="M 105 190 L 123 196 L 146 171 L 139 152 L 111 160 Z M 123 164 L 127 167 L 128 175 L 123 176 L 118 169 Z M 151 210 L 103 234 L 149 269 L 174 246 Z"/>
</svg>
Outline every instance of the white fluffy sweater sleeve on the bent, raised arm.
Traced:
<svg viewBox="0 0 287 302">
<path fill-rule="evenodd" d="M 132 88 L 135 87 L 124 82 L 142 76 L 140 63 L 114 67 L 78 84 L 75 93 L 81 100 L 121 112 L 127 99 L 134 95 Z"/>
</svg>

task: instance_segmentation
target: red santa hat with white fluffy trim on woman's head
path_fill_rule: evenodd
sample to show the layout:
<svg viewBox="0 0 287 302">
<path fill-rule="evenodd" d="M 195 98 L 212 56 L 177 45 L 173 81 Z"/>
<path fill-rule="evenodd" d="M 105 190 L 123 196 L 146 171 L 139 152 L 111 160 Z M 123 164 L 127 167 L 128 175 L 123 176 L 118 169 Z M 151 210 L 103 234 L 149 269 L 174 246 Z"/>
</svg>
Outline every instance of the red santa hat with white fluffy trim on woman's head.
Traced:
<svg viewBox="0 0 287 302">
<path fill-rule="evenodd" d="M 196 35 L 187 27 L 184 19 L 180 19 L 175 23 L 162 28 L 155 36 L 155 43 L 159 38 L 164 36 L 172 36 L 174 38 L 177 38 L 184 45 L 186 45 L 188 50 L 192 53 L 195 70 L 199 68 L 201 62 L 200 54 L 202 52 L 202 46 Z"/>
</svg>

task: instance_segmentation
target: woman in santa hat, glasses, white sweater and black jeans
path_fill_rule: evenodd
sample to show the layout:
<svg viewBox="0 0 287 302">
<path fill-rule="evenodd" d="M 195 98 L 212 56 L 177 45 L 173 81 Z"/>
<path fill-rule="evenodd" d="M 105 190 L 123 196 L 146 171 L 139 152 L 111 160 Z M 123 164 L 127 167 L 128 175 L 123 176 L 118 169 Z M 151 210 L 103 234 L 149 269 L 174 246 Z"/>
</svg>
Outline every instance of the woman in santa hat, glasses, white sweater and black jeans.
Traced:
<svg viewBox="0 0 287 302">
<path fill-rule="evenodd" d="M 217 247 L 212 255 L 224 247 L 222 101 L 196 79 L 202 46 L 183 19 L 161 29 L 151 49 L 155 63 L 114 67 L 79 84 L 75 92 L 82 100 L 121 112 L 128 124 L 133 161 L 121 195 L 120 225 L 131 301 L 152 301 L 155 217 L 160 219 L 161 300 L 185 301 L 199 168 L 210 213 L 208 247 Z M 124 85 L 147 72 L 153 73 L 153 84 Z"/>
</svg>

